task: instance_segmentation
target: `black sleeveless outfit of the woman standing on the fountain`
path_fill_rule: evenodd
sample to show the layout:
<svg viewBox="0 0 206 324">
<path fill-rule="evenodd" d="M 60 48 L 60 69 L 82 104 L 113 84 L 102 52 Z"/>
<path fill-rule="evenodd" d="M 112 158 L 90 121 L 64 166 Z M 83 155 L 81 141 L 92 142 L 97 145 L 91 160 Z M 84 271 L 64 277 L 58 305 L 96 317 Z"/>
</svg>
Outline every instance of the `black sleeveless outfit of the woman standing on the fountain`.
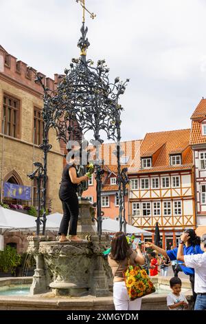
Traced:
<svg viewBox="0 0 206 324">
<path fill-rule="evenodd" d="M 79 215 L 79 203 L 76 190 L 78 185 L 72 183 L 69 176 L 69 168 L 75 168 L 75 165 L 66 165 L 62 172 L 60 183 L 59 198 L 62 201 L 63 217 L 60 223 L 58 234 L 76 235 Z"/>
</svg>

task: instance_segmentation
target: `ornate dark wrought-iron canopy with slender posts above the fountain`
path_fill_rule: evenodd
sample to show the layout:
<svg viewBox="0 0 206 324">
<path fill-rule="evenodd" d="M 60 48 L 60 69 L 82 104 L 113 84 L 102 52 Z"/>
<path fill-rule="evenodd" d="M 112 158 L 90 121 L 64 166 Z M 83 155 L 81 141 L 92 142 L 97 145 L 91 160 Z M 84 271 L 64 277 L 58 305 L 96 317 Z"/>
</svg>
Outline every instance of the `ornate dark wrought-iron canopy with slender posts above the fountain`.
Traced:
<svg viewBox="0 0 206 324">
<path fill-rule="evenodd" d="M 80 1 L 82 2 L 82 1 Z M 84 5 L 84 1 L 83 1 Z M 83 6 L 85 9 L 85 7 Z M 117 183 L 119 185 L 119 224 L 122 230 L 122 223 L 126 223 L 125 217 L 122 220 L 122 205 L 124 194 L 122 194 L 123 177 L 125 172 L 121 173 L 119 162 L 123 152 L 120 150 L 121 140 L 121 112 L 122 105 L 119 105 L 119 97 L 126 90 L 126 81 L 119 81 L 116 77 L 113 82 L 108 78 L 109 69 L 104 60 L 99 60 L 94 66 L 93 61 L 87 60 L 87 49 L 89 40 L 87 39 L 88 28 L 84 26 L 84 20 L 81 28 L 81 37 L 78 41 L 80 48 L 80 58 L 72 59 L 69 68 L 65 69 L 65 75 L 61 76 L 60 82 L 55 91 L 45 88 L 43 78 L 36 74 L 36 82 L 41 83 L 44 91 L 43 121 L 44 133 L 43 144 L 40 145 L 44 152 L 44 170 L 43 170 L 43 207 L 45 209 L 46 199 L 46 181 L 47 181 L 47 152 L 51 150 L 52 145 L 48 141 L 48 132 L 50 128 L 56 130 L 57 139 L 68 142 L 69 139 L 82 141 L 84 135 L 91 131 L 93 139 L 91 143 L 98 150 L 102 144 L 102 132 L 106 133 L 108 140 L 117 143 Z M 101 191 L 102 174 L 104 171 L 96 161 L 95 178 L 97 181 L 97 221 L 98 234 L 102 234 L 102 212 L 101 212 Z M 102 172 L 103 171 L 103 172 Z M 43 215 L 43 224 L 46 223 L 45 213 Z M 45 230 L 45 226 L 44 226 Z"/>
</svg>

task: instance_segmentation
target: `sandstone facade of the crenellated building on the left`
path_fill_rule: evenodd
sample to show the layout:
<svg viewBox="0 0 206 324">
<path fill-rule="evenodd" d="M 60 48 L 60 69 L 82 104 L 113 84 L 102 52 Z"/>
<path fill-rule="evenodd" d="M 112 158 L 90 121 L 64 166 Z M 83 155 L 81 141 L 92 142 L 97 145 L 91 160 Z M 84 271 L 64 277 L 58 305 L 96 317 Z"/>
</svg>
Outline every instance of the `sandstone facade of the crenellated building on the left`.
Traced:
<svg viewBox="0 0 206 324">
<path fill-rule="evenodd" d="M 18 135 L 16 138 L 5 136 L 3 181 L 8 181 L 11 176 L 15 176 L 19 184 L 31 186 L 32 183 L 30 179 L 27 179 L 27 174 L 32 172 L 32 163 L 33 161 L 43 162 L 43 152 L 38 148 L 38 145 L 33 144 L 34 107 L 40 109 L 43 107 L 42 90 L 40 85 L 34 83 L 34 76 L 29 74 L 30 70 L 27 69 L 25 63 L 17 62 L 16 58 L 8 54 L 1 46 L 0 55 L 3 57 L 3 61 L 7 62 L 4 64 L 3 72 L 0 72 L 0 161 L 2 161 L 3 148 L 3 95 L 19 99 L 20 103 Z M 18 70 L 16 70 L 17 66 Z M 54 80 L 44 77 L 44 81 L 49 88 L 56 87 Z M 47 163 L 47 197 L 52 199 L 52 212 L 62 212 L 58 189 L 63 156 L 60 143 L 56 140 L 53 130 L 49 132 L 49 143 L 52 144 L 52 150 L 48 154 Z"/>
</svg>

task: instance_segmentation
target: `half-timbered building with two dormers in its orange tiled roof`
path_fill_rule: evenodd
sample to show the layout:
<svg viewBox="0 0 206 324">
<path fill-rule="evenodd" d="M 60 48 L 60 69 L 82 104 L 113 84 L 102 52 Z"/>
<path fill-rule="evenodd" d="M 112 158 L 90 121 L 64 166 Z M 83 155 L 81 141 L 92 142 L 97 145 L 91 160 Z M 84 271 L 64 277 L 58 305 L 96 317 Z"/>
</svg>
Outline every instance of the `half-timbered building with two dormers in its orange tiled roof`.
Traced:
<svg viewBox="0 0 206 324">
<path fill-rule="evenodd" d="M 129 174 L 129 221 L 150 232 L 158 222 L 169 248 L 185 228 L 195 228 L 190 129 L 146 134 L 140 159 L 139 170 Z"/>
</svg>

